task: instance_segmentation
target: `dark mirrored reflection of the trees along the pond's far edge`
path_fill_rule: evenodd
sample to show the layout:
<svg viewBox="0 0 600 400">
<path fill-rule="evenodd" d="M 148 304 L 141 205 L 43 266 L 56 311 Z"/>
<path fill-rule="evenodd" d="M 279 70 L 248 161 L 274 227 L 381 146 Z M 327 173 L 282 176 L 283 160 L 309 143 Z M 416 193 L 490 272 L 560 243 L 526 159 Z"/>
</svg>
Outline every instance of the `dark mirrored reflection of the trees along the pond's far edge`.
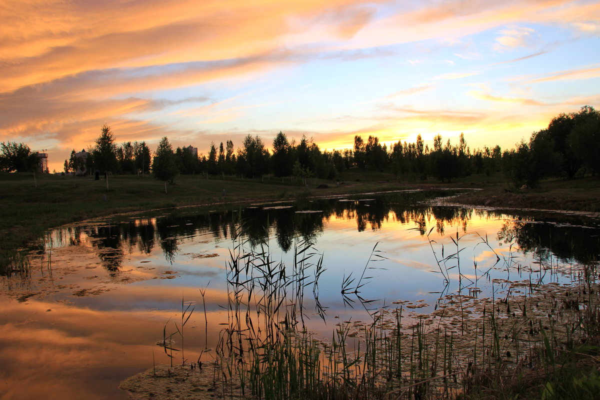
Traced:
<svg viewBox="0 0 600 400">
<path fill-rule="evenodd" d="M 494 239 L 515 243 L 525 254 L 537 253 L 547 259 L 554 254 L 562 261 L 588 262 L 597 258 L 598 223 L 574 215 L 506 215 L 464 207 L 422 206 L 407 194 L 388 194 L 367 199 L 318 199 L 298 203 L 254 204 L 222 212 L 174 210 L 148 216 L 113 217 L 107 222 L 74 225 L 53 231 L 46 240 L 52 246 L 89 246 L 104 269 L 116 271 L 134 249 L 151 254 L 160 247 L 165 259 L 173 263 L 182 240 L 208 235 L 215 243 L 241 234 L 251 248 L 274 237 L 284 252 L 292 249 L 296 239 L 317 242 L 325 225 L 332 220 L 346 221 L 357 231 L 380 230 L 382 224 L 412 224 L 424 236 L 425 227 L 433 224 L 439 236 L 446 227 L 460 228 L 463 233 L 476 218 L 504 219 Z M 568 219 L 568 223 L 566 223 Z M 43 249 L 38 249 L 43 251 Z"/>
</svg>

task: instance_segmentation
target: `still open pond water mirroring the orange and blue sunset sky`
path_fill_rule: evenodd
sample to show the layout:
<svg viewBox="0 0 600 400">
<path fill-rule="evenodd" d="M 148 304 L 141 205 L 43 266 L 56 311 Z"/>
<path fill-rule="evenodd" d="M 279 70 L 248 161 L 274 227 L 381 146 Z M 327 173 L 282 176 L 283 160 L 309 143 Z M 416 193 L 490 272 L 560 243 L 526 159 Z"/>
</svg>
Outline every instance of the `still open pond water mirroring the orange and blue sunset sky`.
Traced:
<svg viewBox="0 0 600 400">
<path fill-rule="evenodd" d="M 25 272 L 0 277 L 0 399 L 127 399 L 120 381 L 172 361 L 161 344 L 190 304 L 185 343 L 172 336 L 185 351 L 176 362 L 211 359 L 230 325 L 232 282 L 266 255 L 263 269 L 287 276 L 283 297 L 301 298 L 295 326 L 326 340 L 380 308 L 417 318 L 453 293 L 569 284 L 600 254 L 591 216 L 423 201 L 434 195 L 154 210 L 49 231 Z"/>
</svg>

